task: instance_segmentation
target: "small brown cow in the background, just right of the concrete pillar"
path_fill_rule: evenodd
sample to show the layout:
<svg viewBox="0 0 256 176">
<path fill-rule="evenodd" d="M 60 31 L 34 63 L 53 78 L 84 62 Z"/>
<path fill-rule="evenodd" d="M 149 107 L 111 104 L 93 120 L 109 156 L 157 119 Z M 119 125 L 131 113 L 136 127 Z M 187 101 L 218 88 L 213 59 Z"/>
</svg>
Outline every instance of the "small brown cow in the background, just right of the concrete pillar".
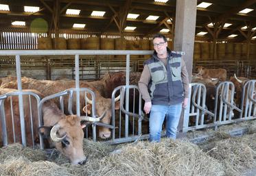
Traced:
<svg viewBox="0 0 256 176">
<path fill-rule="evenodd" d="M 202 78 L 218 78 L 220 81 L 226 81 L 226 70 L 224 68 L 218 69 L 207 69 L 203 66 L 197 66 L 198 76 L 202 76 Z"/>
</svg>

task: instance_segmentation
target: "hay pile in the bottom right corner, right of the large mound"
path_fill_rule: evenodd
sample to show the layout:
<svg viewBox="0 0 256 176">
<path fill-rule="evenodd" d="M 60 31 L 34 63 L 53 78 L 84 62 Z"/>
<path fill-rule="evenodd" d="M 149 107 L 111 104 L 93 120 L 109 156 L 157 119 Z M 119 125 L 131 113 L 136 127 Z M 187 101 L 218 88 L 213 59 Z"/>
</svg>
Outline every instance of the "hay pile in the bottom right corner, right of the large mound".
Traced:
<svg viewBox="0 0 256 176">
<path fill-rule="evenodd" d="M 241 176 L 246 169 L 256 167 L 255 137 L 253 134 L 214 140 L 200 145 L 200 148 L 224 164 L 226 175 Z"/>
</svg>

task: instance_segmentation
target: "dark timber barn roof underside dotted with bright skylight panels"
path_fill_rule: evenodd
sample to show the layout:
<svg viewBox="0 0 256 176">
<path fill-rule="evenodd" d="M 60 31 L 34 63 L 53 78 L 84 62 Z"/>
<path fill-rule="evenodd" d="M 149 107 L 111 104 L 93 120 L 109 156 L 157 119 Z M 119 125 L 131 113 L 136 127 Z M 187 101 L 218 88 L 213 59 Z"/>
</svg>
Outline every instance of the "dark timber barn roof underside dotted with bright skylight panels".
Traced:
<svg viewBox="0 0 256 176">
<path fill-rule="evenodd" d="M 198 5 L 202 2 L 211 3 L 207 8 L 197 8 L 196 34 L 207 32 L 204 36 L 196 36 L 198 40 L 212 40 L 211 32 L 214 27 L 209 27 L 209 23 L 214 23 L 216 29 L 220 29 L 225 23 L 230 23 L 229 27 L 220 30 L 218 38 L 226 40 L 231 34 L 236 34 L 235 38 L 229 40 L 243 41 L 256 36 L 256 0 L 198 0 Z M 0 25 L 3 30 L 31 29 L 32 24 L 38 18 L 47 21 L 49 29 L 58 29 L 87 32 L 90 34 L 134 34 L 150 36 L 161 29 L 169 29 L 174 33 L 174 21 L 176 11 L 176 0 L 169 0 L 166 3 L 154 2 L 154 0 L 3 0 L 1 4 L 9 5 L 10 11 L 0 10 Z M 38 12 L 24 12 L 24 6 L 39 7 Z M 244 9 L 252 9 L 247 14 L 240 13 Z M 80 10 L 79 15 L 66 14 L 67 9 Z M 104 16 L 92 16 L 91 13 L 103 11 Z M 139 14 L 135 19 L 126 18 L 127 14 Z M 156 21 L 148 21 L 148 16 L 159 16 Z M 170 20 L 170 21 L 168 21 Z M 14 26 L 14 21 L 25 21 L 25 26 Z M 85 24 L 82 29 L 74 28 L 73 24 Z M 36 25 L 37 27 L 40 25 Z M 136 27 L 134 31 L 126 31 L 125 27 Z M 247 29 L 241 29 L 247 26 Z M 254 28 L 254 29 L 253 29 Z M 252 30 L 253 29 L 253 30 Z"/>
</svg>

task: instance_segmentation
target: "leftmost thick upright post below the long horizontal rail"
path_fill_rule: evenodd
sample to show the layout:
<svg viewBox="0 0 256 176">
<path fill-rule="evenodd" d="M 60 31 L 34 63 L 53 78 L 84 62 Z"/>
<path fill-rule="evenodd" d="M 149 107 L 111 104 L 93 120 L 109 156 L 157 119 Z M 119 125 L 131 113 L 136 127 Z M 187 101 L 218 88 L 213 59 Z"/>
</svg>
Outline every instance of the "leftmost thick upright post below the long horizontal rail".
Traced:
<svg viewBox="0 0 256 176">
<path fill-rule="evenodd" d="M 24 112 L 23 112 L 23 97 L 21 94 L 22 86 L 21 86 L 21 60 L 20 56 L 16 55 L 16 76 L 18 83 L 18 91 L 19 91 L 19 113 L 21 119 L 21 140 L 22 144 L 25 147 L 26 144 L 26 136 L 25 136 L 25 121 L 24 121 Z"/>
</svg>

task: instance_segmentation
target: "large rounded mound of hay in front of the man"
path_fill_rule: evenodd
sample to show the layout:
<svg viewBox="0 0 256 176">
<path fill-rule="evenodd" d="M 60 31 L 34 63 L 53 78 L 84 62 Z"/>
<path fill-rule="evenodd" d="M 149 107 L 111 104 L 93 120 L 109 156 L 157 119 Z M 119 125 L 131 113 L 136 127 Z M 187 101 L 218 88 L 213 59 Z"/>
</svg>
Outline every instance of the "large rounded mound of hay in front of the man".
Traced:
<svg viewBox="0 0 256 176">
<path fill-rule="evenodd" d="M 224 175 L 224 166 L 189 142 L 138 142 L 91 163 L 89 175 Z"/>
</svg>

